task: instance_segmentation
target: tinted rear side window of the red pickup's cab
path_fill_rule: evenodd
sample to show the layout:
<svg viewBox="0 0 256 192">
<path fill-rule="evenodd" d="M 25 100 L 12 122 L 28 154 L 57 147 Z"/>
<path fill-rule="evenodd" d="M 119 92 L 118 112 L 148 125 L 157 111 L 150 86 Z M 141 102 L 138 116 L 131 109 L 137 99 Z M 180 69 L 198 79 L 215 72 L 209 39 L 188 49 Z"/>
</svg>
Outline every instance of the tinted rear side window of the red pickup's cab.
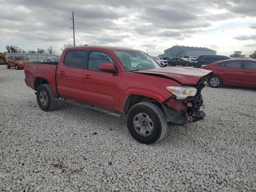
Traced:
<svg viewBox="0 0 256 192">
<path fill-rule="evenodd" d="M 70 68 L 82 69 L 86 62 L 86 50 L 69 50 L 66 52 L 64 64 Z"/>
</svg>

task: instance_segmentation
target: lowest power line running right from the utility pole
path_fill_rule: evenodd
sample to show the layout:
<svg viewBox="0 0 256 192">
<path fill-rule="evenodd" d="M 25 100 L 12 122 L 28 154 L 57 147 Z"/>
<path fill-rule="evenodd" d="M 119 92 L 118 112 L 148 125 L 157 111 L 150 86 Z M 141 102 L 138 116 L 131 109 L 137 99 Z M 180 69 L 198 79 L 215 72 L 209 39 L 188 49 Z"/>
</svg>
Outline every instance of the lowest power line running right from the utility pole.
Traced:
<svg viewBox="0 0 256 192">
<path fill-rule="evenodd" d="M 134 36 L 149 36 L 149 35 L 168 35 L 168 34 L 182 34 L 182 33 L 213 32 L 213 31 L 225 31 L 225 30 L 248 29 L 248 28 L 256 28 L 256 26 L 255 27 L 243 27 L 243 28 L 204 30 L 204 31 L 174 32 L 174 33 L 155 33 L 155 34 L 123 35 L 123 36 L 82 36 L 82 37 L 78 37 L 78 38 L 134 37 Z"/>
</svg>

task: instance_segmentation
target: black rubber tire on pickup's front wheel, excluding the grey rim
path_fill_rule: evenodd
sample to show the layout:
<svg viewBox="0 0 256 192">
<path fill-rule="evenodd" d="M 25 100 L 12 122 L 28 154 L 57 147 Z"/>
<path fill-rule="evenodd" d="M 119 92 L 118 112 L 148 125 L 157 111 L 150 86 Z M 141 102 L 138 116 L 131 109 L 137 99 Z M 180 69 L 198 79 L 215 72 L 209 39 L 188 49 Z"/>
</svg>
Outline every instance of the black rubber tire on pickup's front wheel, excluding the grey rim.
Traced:
<svg viewBox="0 0 256 192">
<path fill-rule="evenodd" d="M 142 136 L 138 133 L 140 131 L 138 131 L 139 127 L 134 127 L 134 121 L 140 114 L 148 115 L 153 123 L 153 130 L 148 136 Z M 145 120 L 140 121 L 140 124 L 144 122 Z M 144 144 L 153 144 L 162 140 L 167 131 L 167 120 L 164 112 L 158 106 L 150 102 L 140 102 L 132 106 L 126 116 L 126 124 L 132 137 Z M 146 122 L 146 125 L 148 125 L 148 122 Z"/>
</svg>

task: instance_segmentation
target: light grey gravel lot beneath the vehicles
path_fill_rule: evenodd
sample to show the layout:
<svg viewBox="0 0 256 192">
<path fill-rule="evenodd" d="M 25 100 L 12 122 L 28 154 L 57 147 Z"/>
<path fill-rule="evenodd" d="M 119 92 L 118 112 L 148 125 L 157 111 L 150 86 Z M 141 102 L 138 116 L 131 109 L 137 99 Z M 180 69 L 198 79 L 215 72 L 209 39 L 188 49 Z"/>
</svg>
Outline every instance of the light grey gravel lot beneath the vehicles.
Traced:
<svg viewBox="0 0 256 192">
<path fill-rule="evenodd" d="M 256 191 L 256 90 L 203 90 L 207 117 L 139 144 L 125 117 L 40 110 L 0 66 L 0 191 Z"/>
</svg>

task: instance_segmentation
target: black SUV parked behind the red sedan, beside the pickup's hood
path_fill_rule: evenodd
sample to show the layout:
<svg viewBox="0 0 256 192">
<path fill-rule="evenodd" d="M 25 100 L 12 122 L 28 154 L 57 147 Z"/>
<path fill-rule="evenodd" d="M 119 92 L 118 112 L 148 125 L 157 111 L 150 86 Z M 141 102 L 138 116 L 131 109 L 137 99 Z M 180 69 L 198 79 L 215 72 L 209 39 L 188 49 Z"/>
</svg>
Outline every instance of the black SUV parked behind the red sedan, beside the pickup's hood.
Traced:
<svg viewBox="0 0 256 192">
<path fill-rule="evenodd" d="M 208 65 L 222 60 L 232 59 L 231 57 L 222 55 L 200 55 L 198 59 L 194 60 L 194 68 L 201 68 L 202 65 Z"/>
</svg>

